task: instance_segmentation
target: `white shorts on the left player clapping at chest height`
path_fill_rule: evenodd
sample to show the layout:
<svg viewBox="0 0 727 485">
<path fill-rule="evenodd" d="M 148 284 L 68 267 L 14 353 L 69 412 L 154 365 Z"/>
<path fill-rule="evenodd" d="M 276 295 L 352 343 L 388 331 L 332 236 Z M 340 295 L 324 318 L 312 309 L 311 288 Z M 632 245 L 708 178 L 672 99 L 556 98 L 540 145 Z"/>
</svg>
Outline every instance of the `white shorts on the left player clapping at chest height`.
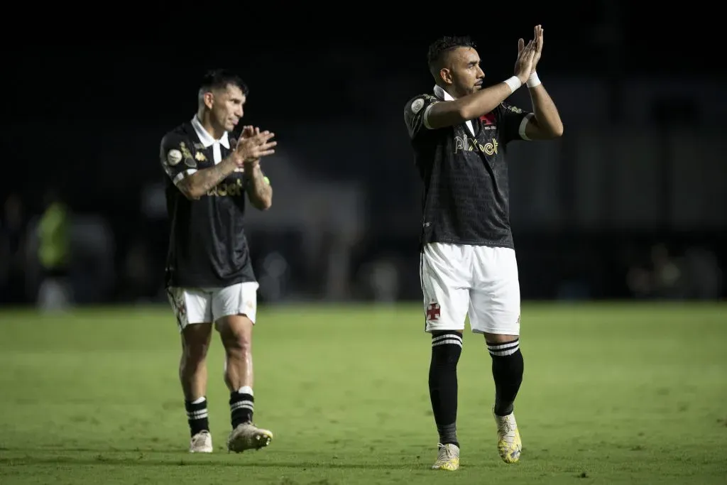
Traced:
<svg viewBox="0 0 727 485">
<path fill-rule="evenodd" d="M 255 323 L 257 288 L 255 281 L 223 288 L 169 287 L 167 297 L 172 305 L 180 332 L 190 324 L 217 321 L 223 316 L 245 315 Z"/>
</svg>

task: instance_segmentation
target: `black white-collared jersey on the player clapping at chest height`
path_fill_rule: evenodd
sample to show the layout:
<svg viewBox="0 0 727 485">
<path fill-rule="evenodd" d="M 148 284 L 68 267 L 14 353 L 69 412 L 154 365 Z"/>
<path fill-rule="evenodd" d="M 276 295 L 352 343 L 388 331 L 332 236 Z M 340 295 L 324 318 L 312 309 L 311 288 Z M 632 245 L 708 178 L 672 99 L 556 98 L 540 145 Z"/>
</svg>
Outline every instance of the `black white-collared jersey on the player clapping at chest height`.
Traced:
<svg viewBox="0 0 727 485">
<path fill-rule="evenodd" d="M 189 121 L 161 140 L 159 156 L 168 175 L 166 209 L 171 223 L 167 286 L 222 287 L 255 281 L 243 225 L 246 179 L 242 169 L 198 200 L 188 200 L 176 187 L 184 177 L 212 167 L 215 151 L 220 159 L 228 156 L 227 135 L 219 143 L 212 143 L 212 137 L 203 143 Z"/>
</svg>

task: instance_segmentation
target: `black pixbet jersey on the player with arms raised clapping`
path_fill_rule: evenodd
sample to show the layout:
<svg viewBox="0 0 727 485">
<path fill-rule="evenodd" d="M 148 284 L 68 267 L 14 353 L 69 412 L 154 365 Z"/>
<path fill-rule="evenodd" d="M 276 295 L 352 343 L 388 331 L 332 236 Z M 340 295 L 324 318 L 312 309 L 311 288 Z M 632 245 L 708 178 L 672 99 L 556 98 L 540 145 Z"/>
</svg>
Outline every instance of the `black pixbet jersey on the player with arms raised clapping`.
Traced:
<svg viewBox="0 0 727 485">
<path fill-rule="evenodd" d="M 523 140 L 521 127 L 529 113 L 501 103 L 469 124 L 429 129 L 427 110 L 449 97 L 438 88 L 435 94 L 414 97 L 404 108 L 424 184 L 421 243 L 513 248 L 505 147 Z"/>
</svg>

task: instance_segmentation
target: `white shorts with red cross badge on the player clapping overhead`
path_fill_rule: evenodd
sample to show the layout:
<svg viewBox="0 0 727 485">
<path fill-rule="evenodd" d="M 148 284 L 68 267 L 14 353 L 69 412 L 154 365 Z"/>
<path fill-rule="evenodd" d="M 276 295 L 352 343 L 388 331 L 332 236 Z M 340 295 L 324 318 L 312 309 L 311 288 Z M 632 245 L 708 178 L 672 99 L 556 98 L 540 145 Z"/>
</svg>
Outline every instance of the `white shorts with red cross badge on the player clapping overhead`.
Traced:
<svg viewBox="0 0 727 485">
<path fill-rule="evenodd" d="M 425 332 L 464 330 L 520 334 L 520 281 L 515 250 L 431 243 L 419 265 Z"/>
</svg>

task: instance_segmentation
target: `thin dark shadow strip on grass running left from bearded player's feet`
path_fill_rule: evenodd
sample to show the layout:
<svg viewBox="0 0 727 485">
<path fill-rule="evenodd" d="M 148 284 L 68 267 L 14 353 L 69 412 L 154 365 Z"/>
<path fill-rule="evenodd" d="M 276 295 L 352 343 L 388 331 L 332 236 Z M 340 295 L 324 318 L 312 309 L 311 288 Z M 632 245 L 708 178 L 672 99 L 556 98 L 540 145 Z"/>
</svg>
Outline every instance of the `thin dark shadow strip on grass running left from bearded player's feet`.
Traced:
<svg viewBox="0 0 727 485">
<path fill-rule="evenodd" d="M 19 450 L 14 450 L 19 451 Z M 30 450 L 28 450 L 30 451 Z M 33 450 L 37 452 L 38 450 Z M 63 452 L 70 452 L 71 450 L 64 449 Z M 80 451 L 80 450 L 79 450 Z M 83 450 L 84 452 L 91 450 Z M 161 452 L 153 452 L 161 453 Z M 168 452 L 166 452 L 168 453 Z M 411 468 L 421 468 L 421 463 L 407 463 L 402 462 L 399 465 L 387 465 L 379 463 L 336 463 L 336 462 L 311 462 L 311 461 L 300 461 L 300 462 L 247 462 L 242 461 L 244 457 L 240 457 L 240 461 L 201 461 L 201 460 L 190 460 L 188 457 L 180 458 L 169 458 L 169 460 L 158 460 L 148 459 L 142 456 L 143 452 L 140 453 L 139 457 L 111 457 L 105 454 L 98 454 L 96 457 L 20 457 L 20 458 L 9 458 L 0 457 L 0 467 L 6 466 L 33 466 L 33 465 L 109 465 L 109 466 L 160 466 L 160 467 L 172 467 L 172 466 L 191 466 L 191 467 L 260 467 L 260 468 L 343 468 L 343 469 L 380 469 L 380 470 L 409 470 Z M 243 454 L 244 455 L 244 454 Z M 228 460 L 234 460 L 236 455 L 230 454 Z"/>
</svg>

